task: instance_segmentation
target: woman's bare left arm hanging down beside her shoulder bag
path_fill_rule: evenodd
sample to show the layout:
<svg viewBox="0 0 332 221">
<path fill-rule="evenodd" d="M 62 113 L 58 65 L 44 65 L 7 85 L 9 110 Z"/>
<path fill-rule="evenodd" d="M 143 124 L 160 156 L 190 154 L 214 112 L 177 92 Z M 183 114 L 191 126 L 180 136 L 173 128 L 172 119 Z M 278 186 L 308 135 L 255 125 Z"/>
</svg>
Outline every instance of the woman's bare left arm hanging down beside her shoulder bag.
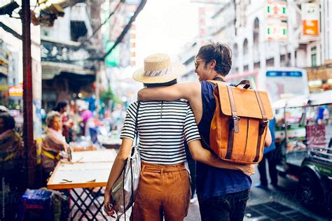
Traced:
<svg viewBox="0 0 332 221">
<path fill-rule="evenodd" d="M 116 183 L 116 179 L 120 176 L 120 173 L 125 165 L 125 159 L 130 155 L 130 148 L 132 147 L 132 140 L 130 138 L 123 138 L 121 143 L 118 155 L 116 155 L 116 159 L 114 160 L 111 173 L 109 173 L 109 180 L 107 181 L 106 190 L 104 193 L 104 208 L 107 215 L 113 217 L 114 210 L 113 208 L 109 208 L 109 202 L 112 203 L 113 199 L 111 197 L 111 189 Z"/>
</svg>

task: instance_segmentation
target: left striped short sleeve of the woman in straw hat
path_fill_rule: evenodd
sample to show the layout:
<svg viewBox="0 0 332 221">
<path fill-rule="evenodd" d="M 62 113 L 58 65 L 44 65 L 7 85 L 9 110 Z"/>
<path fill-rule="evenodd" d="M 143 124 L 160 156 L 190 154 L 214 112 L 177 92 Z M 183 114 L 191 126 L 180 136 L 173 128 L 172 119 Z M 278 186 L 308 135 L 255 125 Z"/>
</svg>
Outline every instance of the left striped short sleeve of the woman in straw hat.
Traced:
<svg viewBox="0 0 332 221">
<path fill-rule="evenodd" d="M 138 102 L 134 102 L 130 104 L 127 109 L 127 114 L 125 115 L 125 122 L 123 123 L 123 128 L 120 134 L 120 138 L 130 138 L 134 140 L 135 137 L 135 120 L 137 115 L 137 104 Z"/>
</svg>

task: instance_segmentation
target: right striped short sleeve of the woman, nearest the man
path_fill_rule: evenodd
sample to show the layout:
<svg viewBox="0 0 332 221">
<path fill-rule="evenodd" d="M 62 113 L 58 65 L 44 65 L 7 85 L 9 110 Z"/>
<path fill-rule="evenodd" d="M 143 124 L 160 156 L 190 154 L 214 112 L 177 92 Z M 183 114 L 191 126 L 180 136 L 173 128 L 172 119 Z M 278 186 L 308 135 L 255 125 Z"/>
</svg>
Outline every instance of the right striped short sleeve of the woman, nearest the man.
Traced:
<svg viewBox="0 0 332 221">
<path fill-rule="evenodd" d="M 187 106 L 186 119 L 184 120 L 184 136 L 187 143 L 200 139 L 200 132 L 198 131 L 195 116 L 189 104 Z"/>
</svg>

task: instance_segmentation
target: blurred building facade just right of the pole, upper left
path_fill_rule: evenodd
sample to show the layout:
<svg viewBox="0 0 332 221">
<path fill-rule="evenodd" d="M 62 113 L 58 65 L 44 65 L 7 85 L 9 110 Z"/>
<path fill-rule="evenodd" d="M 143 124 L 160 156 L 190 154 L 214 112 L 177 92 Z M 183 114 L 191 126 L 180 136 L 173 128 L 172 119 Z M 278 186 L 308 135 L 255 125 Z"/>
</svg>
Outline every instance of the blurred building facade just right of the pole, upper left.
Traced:
<svg viewBox="0 0 332 221">
<path fill-rule="evenodd" d="M 100 76 L 104 74 L 98 57 L 104 52 L 99 29 L 102 3 L 93 0 L 76 3 L 65 8 L 64 16 L 57 18 L 53 26 L 41 27 L 46 110 L 54 108 L 59 101 L 90 99 L 99 94 Z"/>
</svg>

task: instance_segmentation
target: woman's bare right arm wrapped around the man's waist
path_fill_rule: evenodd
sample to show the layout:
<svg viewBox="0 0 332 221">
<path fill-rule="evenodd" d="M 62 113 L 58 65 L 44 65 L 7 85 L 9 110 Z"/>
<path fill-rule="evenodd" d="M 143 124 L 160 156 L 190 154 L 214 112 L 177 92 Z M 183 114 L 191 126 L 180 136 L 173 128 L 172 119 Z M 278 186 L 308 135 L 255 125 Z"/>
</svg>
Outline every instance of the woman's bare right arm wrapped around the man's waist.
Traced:
<svg viewBox="0 0 332 221">
<path fill-rule="evenodd" d="M 247 176 L 251 176 L 254 173 L 254 166 L 249 164 L 233 164 L 223 161 L 211 151 L 202 147 L 200 140 L 191 141 L 188 143 L 191 156 L 195 161 L 202 162 L 209 166 L 214 166 L 223 169 L 240 170 Z"/>
</svg>

